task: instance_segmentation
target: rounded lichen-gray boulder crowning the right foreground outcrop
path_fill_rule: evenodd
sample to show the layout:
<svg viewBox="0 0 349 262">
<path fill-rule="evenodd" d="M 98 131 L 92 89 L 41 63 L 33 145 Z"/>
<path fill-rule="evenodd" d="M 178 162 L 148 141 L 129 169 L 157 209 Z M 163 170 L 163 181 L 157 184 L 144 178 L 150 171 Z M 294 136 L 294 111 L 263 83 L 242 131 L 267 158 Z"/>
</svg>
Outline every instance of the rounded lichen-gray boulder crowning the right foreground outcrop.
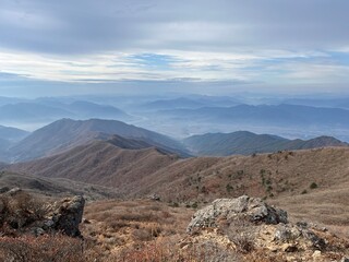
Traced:
<svg viewBox="0 0 349 262">
<path fill-rule="evenodd" d="M 258 198 L 242 195 L 237 199 L 217 199 L 210 205 L 197 211 L 186 233 L 204 227 L 217 227 L 221 219 L 248 219 L 258 224 L 287 224 L 287 212 L 267 205 Z"/>
</svg>

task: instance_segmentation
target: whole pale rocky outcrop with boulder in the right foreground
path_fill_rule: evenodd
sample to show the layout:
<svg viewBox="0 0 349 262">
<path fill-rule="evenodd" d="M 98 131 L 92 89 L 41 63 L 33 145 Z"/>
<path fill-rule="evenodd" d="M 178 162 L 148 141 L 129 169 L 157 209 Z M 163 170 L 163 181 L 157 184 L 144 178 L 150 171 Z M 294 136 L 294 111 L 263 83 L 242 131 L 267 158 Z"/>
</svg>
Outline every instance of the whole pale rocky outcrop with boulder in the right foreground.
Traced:
<svg viewBox="0 0 349 262">
<path fill-rule="evenodd" d="M 308 223 L 292 224 L 287 213 L 261 199 L 218 199 L 197 211 L 181 247 L 213 247 L 217 261 L 341 261 L 349 241 Z M 215 261 L 217 258 L 210 258 Z"/>
</svg>

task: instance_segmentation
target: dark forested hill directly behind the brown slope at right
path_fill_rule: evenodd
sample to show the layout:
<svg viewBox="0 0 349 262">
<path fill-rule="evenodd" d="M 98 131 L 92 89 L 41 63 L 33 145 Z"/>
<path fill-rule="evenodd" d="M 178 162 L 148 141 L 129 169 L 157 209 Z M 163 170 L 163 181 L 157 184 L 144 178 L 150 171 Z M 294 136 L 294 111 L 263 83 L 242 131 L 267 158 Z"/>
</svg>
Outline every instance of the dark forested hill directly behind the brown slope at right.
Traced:
<svg viewBox="0 0 349 262">
<path fill-rule="evenodd" d="M 270 134 L 255 134 L 248 131 L 233 133 L 207 133 L 193 135 L 183 143 L 194 155 L 228 156 L 270 153 L 284 150 L 309 150 L 324 146 L 348 146 L 332 136 L 320 136 L 312 140 L 288 140 Z"/>
</svg>

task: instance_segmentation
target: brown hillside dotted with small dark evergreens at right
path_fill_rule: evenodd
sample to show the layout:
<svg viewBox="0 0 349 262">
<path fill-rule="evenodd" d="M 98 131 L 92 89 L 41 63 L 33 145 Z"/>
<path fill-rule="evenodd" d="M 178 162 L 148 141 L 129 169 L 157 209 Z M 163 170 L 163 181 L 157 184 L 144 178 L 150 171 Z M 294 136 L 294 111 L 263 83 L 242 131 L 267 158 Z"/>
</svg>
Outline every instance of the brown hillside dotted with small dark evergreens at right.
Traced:
<svg viewBox="0 0 349 262">
<path fill-rule="evenodd" d="M 312 183 L 316 183 L 315 191 L 348 183 L 348 158 L 347 147 L 196 157 L 180 159 L 133 184 L 139 189 L 137 194 L 157 192 L 172 201 L 206 201 L 241 194 L 298 195 L 311 192 Z"/>
</svg>

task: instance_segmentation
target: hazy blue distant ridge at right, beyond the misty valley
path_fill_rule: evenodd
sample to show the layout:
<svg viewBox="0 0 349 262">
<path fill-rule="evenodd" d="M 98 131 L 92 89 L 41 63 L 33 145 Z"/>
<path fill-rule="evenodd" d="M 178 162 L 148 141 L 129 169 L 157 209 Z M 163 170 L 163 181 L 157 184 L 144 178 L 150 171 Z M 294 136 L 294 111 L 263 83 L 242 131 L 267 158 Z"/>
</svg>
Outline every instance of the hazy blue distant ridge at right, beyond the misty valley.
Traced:
<svg viewBox="0 0 349 262">
<path fill-rule="evenodd" d="M 203 107 L 198 109 L 161 110 L 168 118 L 212 123 L 254 124 L 303 128 L 349 128 L 349 110 L 299 105 L 239 105 L 233 107 Z"/>
</svg>

